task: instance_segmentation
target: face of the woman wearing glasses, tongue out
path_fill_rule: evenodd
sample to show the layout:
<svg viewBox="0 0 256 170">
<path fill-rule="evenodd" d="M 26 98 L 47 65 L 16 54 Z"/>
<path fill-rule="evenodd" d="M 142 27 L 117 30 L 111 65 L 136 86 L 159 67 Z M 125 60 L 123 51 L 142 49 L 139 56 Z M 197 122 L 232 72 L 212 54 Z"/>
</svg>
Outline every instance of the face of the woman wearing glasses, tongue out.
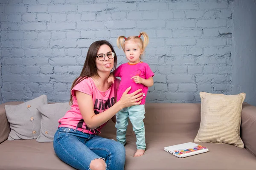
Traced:
<svg viewBox="0 0 256 170">
<path fill-rule="evenodd" d="M 96 68 L 98 71 L 101 72 L 111 72 L 113 66 L 114 66 L 114 56 L 113 59 L 109 59 L 111 58 L 111 54 L 110 52 L 112 52 L 111 48 L 108 45 L 101 45 L 99 47 L 99 50 L 97 52 L 97 56 L 100 56 L 99 59 L 103 59 L 103 61 L 100 61 L 98 59 L 98 57 L 95 57 L 96 59 Z M 100 55 L 99 55 L 100 54 Z M 104 59 L 104 54 L 105 54 L 105 59 Z M 109 57 L 108 57 L 109 55 Z M 103 58 L 102 58 L 103 56 Z"/>
</svg>

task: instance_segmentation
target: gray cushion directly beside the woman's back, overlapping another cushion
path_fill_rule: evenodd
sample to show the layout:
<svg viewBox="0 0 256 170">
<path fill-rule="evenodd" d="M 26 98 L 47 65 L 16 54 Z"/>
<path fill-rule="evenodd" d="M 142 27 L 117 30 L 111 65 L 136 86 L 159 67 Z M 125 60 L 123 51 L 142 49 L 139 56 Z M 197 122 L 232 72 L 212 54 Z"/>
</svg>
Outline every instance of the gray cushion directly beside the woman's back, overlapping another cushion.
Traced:
<svg viewBox="0 0 256 170">
<path fill-rule="evenodd" d="M 58 129 L 58 120 L 70 109 L 69 103 L 55 103 L 38 107 L 42 119 L 41 130 L 37 142 L 53 142 L 53 137 Z"/>
</svg>

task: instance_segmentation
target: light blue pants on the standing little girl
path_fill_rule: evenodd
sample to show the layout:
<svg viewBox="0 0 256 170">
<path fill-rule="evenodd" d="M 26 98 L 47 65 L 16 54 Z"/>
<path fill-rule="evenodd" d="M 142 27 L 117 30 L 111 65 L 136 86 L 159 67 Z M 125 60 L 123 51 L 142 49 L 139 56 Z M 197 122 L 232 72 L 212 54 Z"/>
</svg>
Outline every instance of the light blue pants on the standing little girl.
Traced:
<svg viewBox="0 0 256 170">
<path fill-rule="evenodd" d="M 128 108 L 123 108 L 116 113 L 116 140 L 121 144 L 126 143 L 126 130 L 128 118 L 131 121 L 134 133 L 136 135 L 137 149 L 146 148 L 145 143 L 145 127 L 143 119 L 145 118 L 145 105 L 134 105 Z"/>
</svg>

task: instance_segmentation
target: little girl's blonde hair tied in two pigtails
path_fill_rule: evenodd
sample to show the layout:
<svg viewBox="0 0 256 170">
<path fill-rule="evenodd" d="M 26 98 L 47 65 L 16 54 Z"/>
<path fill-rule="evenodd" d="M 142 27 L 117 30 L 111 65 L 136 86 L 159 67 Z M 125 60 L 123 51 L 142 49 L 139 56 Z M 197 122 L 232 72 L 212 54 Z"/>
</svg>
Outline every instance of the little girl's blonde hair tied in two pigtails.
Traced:
<svg viewBox="0 0 256 170">
<path fill-rule="evenodd" d="M 143 36 L 144 40 L 141 39 L 141 36 Z M 140 32 L 139 36 L 130 36 L 126 38 L 125 36 L 119 36 L 117 38 L 116 44 L 119 49 L 123 49 L 125 51 L 125 42 L 134 40 L 135 42 L 138 42 L 139 48 L 141 51 L 144 52 L 146 46 L 148 45 L 148 34 L 145 32 Z"/>
</svg>

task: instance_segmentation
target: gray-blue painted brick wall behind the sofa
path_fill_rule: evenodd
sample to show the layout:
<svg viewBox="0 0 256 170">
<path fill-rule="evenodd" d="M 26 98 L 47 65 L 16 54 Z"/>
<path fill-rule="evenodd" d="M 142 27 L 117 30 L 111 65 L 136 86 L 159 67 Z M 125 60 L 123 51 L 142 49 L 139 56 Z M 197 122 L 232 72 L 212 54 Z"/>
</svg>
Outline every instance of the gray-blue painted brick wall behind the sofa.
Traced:
<svg viewBox="0 0 256 170">
<path fill-rule="evenodd" d="M 69 100 L 89 45 L 149 35 L 155 73 L 147 102 L 199 102 L 231 93 L 232 0 L 1 0 L 3 102 L 47 94 Z"/>
</svg>

